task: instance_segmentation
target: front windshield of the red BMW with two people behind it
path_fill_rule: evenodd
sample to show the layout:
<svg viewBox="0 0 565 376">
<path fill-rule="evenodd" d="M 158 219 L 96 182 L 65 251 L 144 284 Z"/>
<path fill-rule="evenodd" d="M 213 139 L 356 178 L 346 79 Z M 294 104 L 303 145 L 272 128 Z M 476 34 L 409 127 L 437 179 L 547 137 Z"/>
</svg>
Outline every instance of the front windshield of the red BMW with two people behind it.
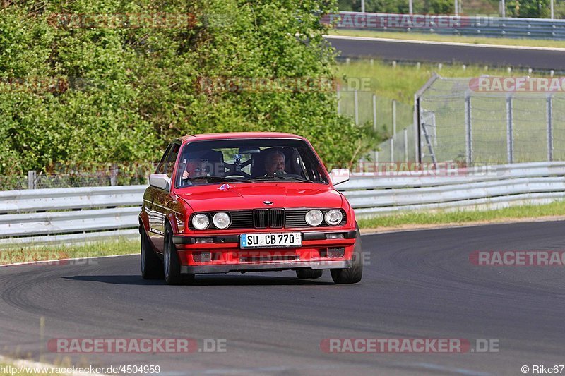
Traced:
<svg viewBox="0 0 565 376">
<path fill-rule="evenodd" d="M 190 142 L 177 168 L 177 188 L 222 182 L 328 183 L 307 142 L 285 138 Z"/>
</svg>

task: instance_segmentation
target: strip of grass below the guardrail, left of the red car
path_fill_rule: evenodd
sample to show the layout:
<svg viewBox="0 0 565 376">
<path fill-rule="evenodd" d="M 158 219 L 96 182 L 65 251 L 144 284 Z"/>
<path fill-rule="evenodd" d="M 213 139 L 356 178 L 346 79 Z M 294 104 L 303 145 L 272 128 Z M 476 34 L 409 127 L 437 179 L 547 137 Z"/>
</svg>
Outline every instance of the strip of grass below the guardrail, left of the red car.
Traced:
<svg viewBox="0 0 565 376">
<path fill-rule="evenodd" d="M 38 247 L 6 248 L 0 250 L 0 265 L 18 262 L 61 260 L 109 255 L 127 255 L 139 252 L 139 240 L 117 239 L 83 245 L 42 245 Z"/>
</svg>

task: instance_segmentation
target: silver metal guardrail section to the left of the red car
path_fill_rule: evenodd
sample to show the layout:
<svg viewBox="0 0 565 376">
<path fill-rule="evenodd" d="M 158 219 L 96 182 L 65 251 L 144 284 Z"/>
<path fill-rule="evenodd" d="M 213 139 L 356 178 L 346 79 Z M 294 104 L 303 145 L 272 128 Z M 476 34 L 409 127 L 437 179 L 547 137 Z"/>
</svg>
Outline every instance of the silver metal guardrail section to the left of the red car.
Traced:
<svg viewBox="0 0 565 376">
<path fill-rule="evenodd" d="M 138 214 L 146 187 L 1 191 L 0 247 L 138 236 Z"/>
</svg>

